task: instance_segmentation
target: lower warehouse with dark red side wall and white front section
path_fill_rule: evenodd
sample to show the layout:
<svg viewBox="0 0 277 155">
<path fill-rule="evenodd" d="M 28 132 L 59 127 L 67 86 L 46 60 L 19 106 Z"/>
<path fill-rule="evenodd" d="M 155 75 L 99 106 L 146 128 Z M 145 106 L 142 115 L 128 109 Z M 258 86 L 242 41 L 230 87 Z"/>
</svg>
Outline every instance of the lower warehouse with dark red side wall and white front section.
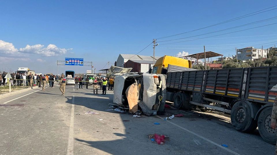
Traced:
<svg viewBox="0 0 277 155">
<path fill-rule="evenodd" d="M 131 72 L 143 73 L 149 73 L 149 68 L 151 68 L 152 66 L 153 60 L 128 60 L 124 64 L 124 68 L 133 68 Z"/>
</svg>

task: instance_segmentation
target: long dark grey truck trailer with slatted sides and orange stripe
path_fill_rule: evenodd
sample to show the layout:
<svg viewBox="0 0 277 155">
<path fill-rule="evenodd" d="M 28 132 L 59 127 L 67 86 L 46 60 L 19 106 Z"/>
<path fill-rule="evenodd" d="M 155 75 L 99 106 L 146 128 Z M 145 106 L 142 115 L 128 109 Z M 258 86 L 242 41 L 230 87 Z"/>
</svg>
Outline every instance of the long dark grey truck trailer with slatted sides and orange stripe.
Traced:
<svg viewBox="0 0 277 155">
<path fill-rule="evenodd" d="M 175 108 L 230 114 L 238 131 L 258 126 L 261 137 L 276 144 L 277 131 L 270 126 L 276 84 L 277 66 L 169 72 L 166 99 Z"/>
</svg>

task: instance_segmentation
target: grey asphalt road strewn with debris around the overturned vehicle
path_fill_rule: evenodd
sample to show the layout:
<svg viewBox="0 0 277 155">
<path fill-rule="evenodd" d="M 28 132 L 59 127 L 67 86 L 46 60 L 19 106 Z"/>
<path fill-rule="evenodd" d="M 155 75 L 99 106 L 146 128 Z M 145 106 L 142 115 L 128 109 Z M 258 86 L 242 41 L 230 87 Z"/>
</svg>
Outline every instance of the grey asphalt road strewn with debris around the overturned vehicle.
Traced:
<svg viewBox="0 0 277 155">
<path fill-rule="evenodd" d="M 135 118 L 106 111 L 112 91 L 66 86 L 61 96 L 54 87 L 0 99 L 0 154 L 274 154 L 258 130 L 240 133 L 226 117 L 169 108 L 164 116 Z M 185 116 L 164 121 L 178 113 Z M 154 133 L 169 141 L 152 142 L 147 135 Z"/>
</svg>

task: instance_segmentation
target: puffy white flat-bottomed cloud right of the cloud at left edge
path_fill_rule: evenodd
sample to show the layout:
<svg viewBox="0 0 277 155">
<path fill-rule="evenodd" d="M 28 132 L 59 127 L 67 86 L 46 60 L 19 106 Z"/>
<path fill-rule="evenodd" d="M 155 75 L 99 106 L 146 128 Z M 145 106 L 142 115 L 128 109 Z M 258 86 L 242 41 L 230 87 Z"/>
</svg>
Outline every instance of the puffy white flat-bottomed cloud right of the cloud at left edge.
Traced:
<svg viewBox="0 0 277 155">
<path fill-rule="evenodd" d="M 46 48 L 44 48 L 44 45 L 36 44 L 32 46 L 27 45 L 26 47 L 19 49 L 19 51 L 22 53 L 33 53 L 33 54 L 44 55 L 46 57 L 63 55 L 63 54 L 66 54 L 68 50 L 72 50 L 72 48 L 71 49 L 58 48 L 54 44 L 49 44 Z"/>
</svg>

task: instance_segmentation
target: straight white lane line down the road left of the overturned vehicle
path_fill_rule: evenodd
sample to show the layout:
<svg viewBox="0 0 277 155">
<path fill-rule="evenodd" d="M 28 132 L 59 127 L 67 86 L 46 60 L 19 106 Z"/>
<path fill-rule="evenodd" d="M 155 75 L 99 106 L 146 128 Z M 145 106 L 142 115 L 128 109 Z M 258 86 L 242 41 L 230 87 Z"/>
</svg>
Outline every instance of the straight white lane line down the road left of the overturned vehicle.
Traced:
<svg viewBox="0 0 277 155">
<path fill-rule="evenodd" d="M 71 106 L 71 117 L 70 117 L 70 125 L 69 125 L 69 134 L 68 134 L 68 145 L 67 145 L 67 154 L 74 155 L 74 100 L 75 96 L 72 96 L 72 106 Z"/>
</svg>

